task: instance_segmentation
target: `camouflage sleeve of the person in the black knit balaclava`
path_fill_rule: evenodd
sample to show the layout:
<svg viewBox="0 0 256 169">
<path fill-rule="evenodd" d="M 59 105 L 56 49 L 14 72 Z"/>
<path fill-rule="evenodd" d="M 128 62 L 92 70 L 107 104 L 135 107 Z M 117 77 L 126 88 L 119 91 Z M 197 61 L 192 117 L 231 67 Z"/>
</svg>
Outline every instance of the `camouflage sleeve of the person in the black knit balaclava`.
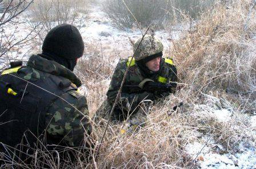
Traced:
<svg viewBox="0 0 256 169">
<path fill-rule="evenodd" d="M 47 135 L 59 143 L 81 146 L 85 135 L 90 135 L 92 129 L 85 96 L 75 90 L 67 91 L 49 107 L 46 125 Z"/>
</svg>

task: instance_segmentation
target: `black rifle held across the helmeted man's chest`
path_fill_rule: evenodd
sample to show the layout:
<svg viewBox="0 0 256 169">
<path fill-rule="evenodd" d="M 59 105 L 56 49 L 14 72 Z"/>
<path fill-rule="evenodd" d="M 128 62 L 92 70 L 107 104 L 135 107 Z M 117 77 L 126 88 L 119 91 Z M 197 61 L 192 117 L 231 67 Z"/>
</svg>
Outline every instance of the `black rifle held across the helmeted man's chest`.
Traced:
<svg viewBox="0 0 256 169">
<path fill-rule="evenodd" d="M 146 82 L 143 87 L 139 85 L 123 85 L 123 92 L 128 93 L 140 93 L 140 92 L 151 92 L 151 93 L 163 93 L 163 92 L 173 92 L 177 87 L 176 82 L 171 83 L 160 83 L 160 82 Z"/>
</svg>

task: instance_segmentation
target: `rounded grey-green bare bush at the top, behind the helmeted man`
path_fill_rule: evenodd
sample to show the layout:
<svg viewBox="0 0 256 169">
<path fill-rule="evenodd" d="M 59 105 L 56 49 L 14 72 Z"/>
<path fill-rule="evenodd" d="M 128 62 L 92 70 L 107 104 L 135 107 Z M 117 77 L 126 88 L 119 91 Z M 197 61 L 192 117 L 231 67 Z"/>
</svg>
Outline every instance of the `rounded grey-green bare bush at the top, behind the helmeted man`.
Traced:
<svg viewBox="0 0 256 169">
<path fill-rule="evenodd" d="M 125 2 L 125 3 L 124 3 Z M 129 0 L 129 1 L 107 0 L 103 4 L 107 16 L 111 19 L 112 23 L 120 29 L 126 29 L 136 26 L 135 19 L 142 27 L 147 27 L 149 24 L 154 23 L 158 25 L 165 17 L 166 1 L 155 0 Z M 127 7 L 130 9 L 127 10 Z"/>
</svg>

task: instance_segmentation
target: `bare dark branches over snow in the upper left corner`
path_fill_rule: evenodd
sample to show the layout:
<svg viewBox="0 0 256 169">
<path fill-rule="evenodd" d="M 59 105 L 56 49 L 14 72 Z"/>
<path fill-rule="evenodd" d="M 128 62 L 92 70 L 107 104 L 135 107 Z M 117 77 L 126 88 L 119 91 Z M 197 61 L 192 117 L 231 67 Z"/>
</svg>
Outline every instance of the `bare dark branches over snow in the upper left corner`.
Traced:
<svg viewBox="0 0 256 169">
<path fill-rule="evenodd" d="M 25 48 L 30 41 L 31 31 L 19 36 L 24 19 L 18 19 L 31 5 L 31 1 L 0 1 L 0 70 L 6 68 L 10 61 L 21 60 L 21 47 Z M 34 29 L 34 27 L 33 27 Z"/>
</svg>

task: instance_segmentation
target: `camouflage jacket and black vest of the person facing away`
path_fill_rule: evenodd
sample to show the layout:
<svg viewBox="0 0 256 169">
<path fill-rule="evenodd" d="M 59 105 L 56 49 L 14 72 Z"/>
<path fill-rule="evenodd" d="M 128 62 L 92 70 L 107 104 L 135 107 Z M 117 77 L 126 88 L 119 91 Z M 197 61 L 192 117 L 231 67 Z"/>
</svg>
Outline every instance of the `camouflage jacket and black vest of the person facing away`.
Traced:
<svg viewBox="0 0 256 169">
<path fill-rule="evenodd" d="M 21 138 L 15 136 L 10 142 L 11 134 L 15 135 L 15 130 L 21 130 L 20 128 L 35 131 L 33 133 L 35 136 L 45 135 L 44 130 L 46 130 L 47 144 L 70 147 L 81 146 L 85 134 L 87 136 L 91 134 L 86 98 L 77 92 L 77 87 L 81 86 L 81 81 L 72 71 L 59 63 L 49 61 L 39 57 L 39 55 L 32 55 L 27 66 L 3 71 L 0 76 L 0 83 L 2 85 L 0 93 L 6 96 L 6 99 L 2 97 L 0 99 L 0 111 L 1 113 L 6 111 L 3 116 L 0 116 L 0 123 L 3 123 L 0 125 L 2 135 L 0 142 L 9 144 L 9 146 L 20 143 Z M 18 88 L 19 83 L 25 83 L 26 87 Z M 32 83 L 37 84 L 37 86 Z M 8 90 L 6 90 L 6 84 L 9 85 Z M 48 88 L 48 91 L 45 91 L 44 88 Z M 61 89 L 58 91 L 55 88 Z M 21 94 L 18 91 L 21 91 Z M 50 98 L 54 99 L 51 100 Z M 21 100 L 20 104 L 15 99 Z M 13 106 L 10 106 L 9 102 Z M 20 118 L 23 126 L 17 126 L 15 123 L 4 124 L 3 119 L 15 120 L 8 115 L 8 111 L 13 110 L 12 107 L 19 107 L 21 112 L 17 118 Z M 38 117 L 34 116 L 38 111 L 40 111 Z M 25 117 L 23 118 L 23 116 Z M 34 116 L 34 119 L 30 119 L 30 116 Z M 8 125 L 13 128 L 8 128 Z M 7 130 L 9 134 L 6 133 Z M 37 133 L 38 131 L 41 133 Z M 22 134 L 18 133 L 16 136 L 18 135 Z M 9 139 L 9 143 L 6 143 L 5 139 Z"/>
</svg>

